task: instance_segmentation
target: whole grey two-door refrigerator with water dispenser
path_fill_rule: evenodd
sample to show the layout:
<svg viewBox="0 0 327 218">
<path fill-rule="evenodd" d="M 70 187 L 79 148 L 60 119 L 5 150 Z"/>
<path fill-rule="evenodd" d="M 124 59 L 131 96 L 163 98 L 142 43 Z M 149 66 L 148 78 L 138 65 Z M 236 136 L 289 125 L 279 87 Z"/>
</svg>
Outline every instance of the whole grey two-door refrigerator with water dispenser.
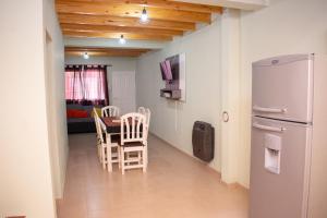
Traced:
<svg viewBox="0 0 327 218">
<path fill-rule="evenodd" d="M 327 218 L 327 59 L 252 64 L 250 218 Z"/>
</svg>

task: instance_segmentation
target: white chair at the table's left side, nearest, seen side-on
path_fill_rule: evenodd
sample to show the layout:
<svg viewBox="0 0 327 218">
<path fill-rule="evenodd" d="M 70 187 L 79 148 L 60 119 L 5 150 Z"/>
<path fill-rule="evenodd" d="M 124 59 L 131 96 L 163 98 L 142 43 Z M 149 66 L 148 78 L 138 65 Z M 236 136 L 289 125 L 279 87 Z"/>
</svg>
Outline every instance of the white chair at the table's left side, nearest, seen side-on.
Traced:
<svg viewBox="0 0 327 218">
<path fill-rule="evenodd" d="M 96 117 L 96 122 L 99 129 L 99 138 L 100 138 L 100 162 L 102 164 L 102 168 L 107 169 L 109 172 L 112 171 L 112 164 L 119 162 L 119 148 L 118 142 L 111 141 L 111 135 L 107 133 L 105 123 L 100 120 L 100 118 Z"/>
</svg>

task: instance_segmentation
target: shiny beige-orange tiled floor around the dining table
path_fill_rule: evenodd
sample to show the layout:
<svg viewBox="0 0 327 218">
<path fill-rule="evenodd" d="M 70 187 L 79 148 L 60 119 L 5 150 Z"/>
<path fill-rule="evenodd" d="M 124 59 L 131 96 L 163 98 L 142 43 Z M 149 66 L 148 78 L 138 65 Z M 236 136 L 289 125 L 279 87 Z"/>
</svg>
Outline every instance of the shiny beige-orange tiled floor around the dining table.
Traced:
<svg viewBox="0 0 327 218">
<path fill-rule="evenodd" d="M 149 136 L 148 171 L 100 167 L 94 134 L 70 136 L 59 218 L 246 218 L 247 193 L 228 189 L 199 161 Z"/>
</svg>

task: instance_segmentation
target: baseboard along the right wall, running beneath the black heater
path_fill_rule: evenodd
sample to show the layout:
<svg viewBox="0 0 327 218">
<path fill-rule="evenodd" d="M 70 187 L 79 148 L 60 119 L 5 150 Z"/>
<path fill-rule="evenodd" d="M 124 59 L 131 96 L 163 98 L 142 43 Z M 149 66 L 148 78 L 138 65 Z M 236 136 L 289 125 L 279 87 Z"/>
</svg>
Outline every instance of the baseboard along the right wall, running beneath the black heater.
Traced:
<svg viewBox="0 0 327 218">
<path fill-rule="evenodd" d="M 170 144 L 169 142 L 167 142 L 166 140 L 164 140 L 162 137 L 158 136 L 157 134 L 155 134 L 155 133 L 153 133 L 153 132 L 150 132 L 150 134 L 152 134 L 153 136 L 155 136 L 157 140 L 159 140 L 159 141 L 164 142 L 165 144 L 169 145 L 170 147 L 174 148 L 174 149 L 178 150 L 179 153 L 182 153 L 183 155 L 186 155 L 187 157 L 191 157 L 191 158 L 193 158 L 194 160 L 199 161 L 199 162 L 206 165 L 206 166 L 208 167 L 208 169 L 213 170 L 215 173 L 217 173 L 217 174 L 219 175 L 219 178 L 220 178 L 220 183 L 223 184 L 223 185 L 226 185 L 228 189 L 240 189 L 240 190 L 243 190 L 244 192 L 249 192 L 249 189 L 247 189 L 247 187 L 243 186 L 242 184 L 240 184 L 240 183 L 238 183 L 238 182 L 227 183 L 227 182 L 222 181 L 222 180 L 221 180 L 221 172 L 219 172 L 219 171 L 215 170 L 214 168 L 211 168 L 211 167 L 208 165 L 208 162 L 205 162 L 205 161 L 203 161 L 203 160 L 201 160 L 201 159 L 194 157 L 193 155 L 191 155 L 191 154 L 189 154 L 189 153 L 185 153 L 184 150 L 180 149 L 179 147 L 173 146 L 172 144 Z"/>
</svg>

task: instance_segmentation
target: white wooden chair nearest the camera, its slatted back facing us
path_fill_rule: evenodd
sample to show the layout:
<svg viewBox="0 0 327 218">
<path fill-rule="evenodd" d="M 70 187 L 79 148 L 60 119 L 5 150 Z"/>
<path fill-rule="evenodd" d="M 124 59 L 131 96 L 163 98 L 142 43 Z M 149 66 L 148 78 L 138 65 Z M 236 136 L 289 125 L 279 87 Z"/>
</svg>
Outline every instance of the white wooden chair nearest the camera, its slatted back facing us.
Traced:
<svg viewBox="0 0 327 218">
<path fill-rule="evenodd" d="M 120 167 L 124 174 L 126 169 L 147 168 L 147 128 L 145 116 L 128 113 L 121 117 Z M 136 157 L 129 157 L 137 153 Z"/>
</svg>

